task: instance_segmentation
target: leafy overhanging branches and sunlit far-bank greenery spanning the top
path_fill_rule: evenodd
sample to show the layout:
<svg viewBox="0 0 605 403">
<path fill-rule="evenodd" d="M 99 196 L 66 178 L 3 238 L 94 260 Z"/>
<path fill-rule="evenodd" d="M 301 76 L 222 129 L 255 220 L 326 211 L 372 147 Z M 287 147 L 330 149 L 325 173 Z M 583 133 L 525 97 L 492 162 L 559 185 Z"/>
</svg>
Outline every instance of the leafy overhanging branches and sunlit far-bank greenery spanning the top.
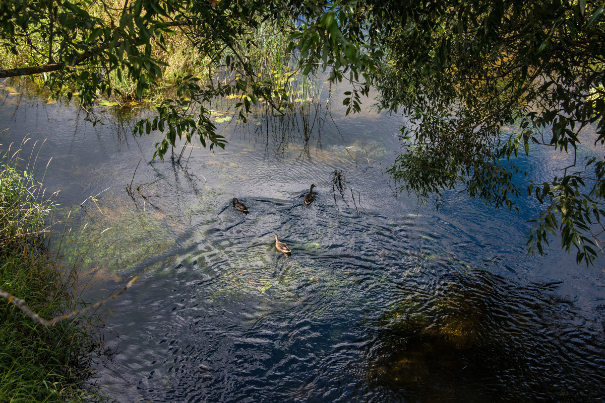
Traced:
<svg viewBox="0 0 605 403">
<path fill-rule="evenodd" d="M 94 4 L 2 3 L 3 48 L 37 59 L 0 77 L 38 74 L 56 96 L 77 93 L 86 106 L 126 86 L 141 98 L 166 79 L 169 61 L 156 49 L 203 56 L 208 75 L 175 76 L 172 96 L 134 127 L 139 135 L 165 134 L 154 154 L 163 158 L 177 139 L 224 148 L 209 107 L 217 97 L 239 97 L 242 121 L 261 100 L 279 111 L 284 75 L 257 69 L 267 49 L 278 49 L 295 58 L 302 76 L 319 68 L 332 82 L 350 81 L 349 112 L 361 110 L 375 87 L 381 109 L 408 116 L 390 170 L 402 191 L 439 203 L 444 190 L 456 189 L 513 211 L 527 192 L 539 205 L 529 252 L 543 253 L 552 234 L 578 262 L 603 253 L 605 162 L 595 156 L 605 144 L 600 2 L 126 0 L 100 6 L 109 18 L 97 16 Z M 285 51 L 261 46 L 263 24 L 278 27 Z M 113 75 L 128 85 L 116 85 Z M 503 132 L 509 127 L 511 135 Z M 584 145 L 596 151 L 578 154 Z M 574 162 L 532 178 L 517 160 L 535 147 Z"/>
</svg>

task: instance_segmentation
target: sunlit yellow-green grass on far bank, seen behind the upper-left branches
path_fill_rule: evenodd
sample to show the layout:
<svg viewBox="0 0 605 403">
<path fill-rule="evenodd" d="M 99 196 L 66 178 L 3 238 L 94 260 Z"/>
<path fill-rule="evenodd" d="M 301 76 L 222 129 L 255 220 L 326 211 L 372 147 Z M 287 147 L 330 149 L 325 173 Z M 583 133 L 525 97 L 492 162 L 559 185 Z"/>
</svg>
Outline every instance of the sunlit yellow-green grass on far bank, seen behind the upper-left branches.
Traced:
<svg viewBox="0 0 605 403">
<path fill-rule="evenodd" d="M 102 24 L 117 24 L 123 12 L 123 1 L 114 0 L 109 2 L 91 2 L 85 7 L 85 11 L 91 19 Z M 63 16 L 65 18 L 65 15 Z M 176 17 L 176 16 L 175 16 Z M 102 74 L 102 80 L 113 91 L 110 98 L 117 98 L 122 102 L 137 100 L 143 97 L 154 103 L 161 103 L 166 98 L 175 95 L 174 89 L 178 81 L 185 77 L 196 77 L 202 81 L 211 79 L 225 79 L 224 72 L 226 58 L 237 57 L 240 54 L 255 61 L 255 72 L 257 77 L 263 77 L 266 80 L 278 80 L 284 74 L 291 74 L 295 68 L 287 52 L 289 44 L 290 28 L 279 21 L 259 21 L 257 27 L 249 27 L 243 31 L 245 40 L 238 41 L 232 48 L 215 49 L 216 53 L 203 53 L 198 51 L 192 43 L 197 35 L 195 28 L 188 24 L 177 25 L 174 30 L 169 31 L 162 37 L 162 43 L 151 43 L 150 56 L 157 61 L 159 74 L 151 80 L 148 73 L 145 75 L 146 85 L 137 88 L 137 83 L 129 77 L 129 71 L 126 66 L 117 69 L 108 69 Z M 27 68 L 27 66 L 44 65 L 47 62 L 48 54 L 53 50 L 44 39 L 45 35 L 39 30 L 33 30 L 29 35 L 28 45 L 21 45 L 9 48 L 7 46 L 0 48 L 0 69 L 10 70 L 18 68 Z M 32 52 L 31 49 L 36 51 Z M 83 65 L 82 68 L 88 71 L 88 75 L 95 75 L 98 70 L 97 65 Z M 241 76 L 241 71 L 238 74 Z M 238 77 L 233 76 L 231 78 Z M 35 81 L 42 86 L 48 85 L 45 75 L 36 76 Z M 276 81 L 276 80 L 274 80 Z M 69 94 L 72 90 L 70 86 L 62 87 L 63 95 Z M 102 94 L 99 94 L 102 95 Z"/>
</svg>

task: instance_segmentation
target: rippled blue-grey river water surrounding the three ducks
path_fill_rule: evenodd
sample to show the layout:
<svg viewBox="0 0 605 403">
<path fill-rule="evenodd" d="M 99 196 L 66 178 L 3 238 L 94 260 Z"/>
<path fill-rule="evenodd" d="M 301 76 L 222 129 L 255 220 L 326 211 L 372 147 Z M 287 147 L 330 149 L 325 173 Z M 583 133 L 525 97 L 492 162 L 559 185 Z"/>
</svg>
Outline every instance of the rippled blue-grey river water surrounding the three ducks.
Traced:
<svg viewBox="0 0 605 403">
<path fill-rule="evenodd" d="M 97 360 L 116 401 L 605 401 L 603 259 L 577 266 L 556 240 L 526 258 L 530 199 L 518 217 L 455 192 L 438 212 L 397 195 L 385 168 L 401 116 L 345 117 L 339 92 L 327 107 L 324 94 L 218 123 L 224 151 L 151 163 L 160 136 L 130 132 L 145 110 L 89 114 L 21 91 L 2 89 L 2 150 L 47 138 L 37 175 L 53 157 L 44 182 L 62 217 L 74 206 L 64 252 L 97 240 L 86 296 L 140 275 L 110 303 L 113 354 Z M 524 164 L 541 178 L 566 162 Z"/>
</svg>

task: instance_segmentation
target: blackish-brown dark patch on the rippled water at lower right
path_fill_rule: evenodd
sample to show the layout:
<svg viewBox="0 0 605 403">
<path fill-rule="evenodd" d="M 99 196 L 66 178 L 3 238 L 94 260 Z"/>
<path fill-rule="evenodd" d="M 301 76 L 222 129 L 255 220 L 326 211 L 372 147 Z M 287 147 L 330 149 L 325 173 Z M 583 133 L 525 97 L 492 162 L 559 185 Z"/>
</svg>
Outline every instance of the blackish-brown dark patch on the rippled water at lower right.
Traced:
<svg viewBox="0 0 605 403">
<path fill-rule="evenodd" d="M 603 334 L 555 294 L 559 283 L 487 271 L 410 280 L 368 346 L 374 387 L 422 402 L 592 402 L 605 393 L 599 363 L 586 359 L 603 356 Z M 592 340 L 574 343 L 586 333 Z"/>
</svg>

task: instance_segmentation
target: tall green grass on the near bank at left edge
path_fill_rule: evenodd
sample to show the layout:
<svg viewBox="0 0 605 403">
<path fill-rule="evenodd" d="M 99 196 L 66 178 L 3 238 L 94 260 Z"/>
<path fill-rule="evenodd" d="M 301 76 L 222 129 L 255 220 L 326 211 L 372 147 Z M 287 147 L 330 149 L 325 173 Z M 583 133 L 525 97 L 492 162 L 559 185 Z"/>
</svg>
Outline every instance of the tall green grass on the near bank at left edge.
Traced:
<svg viewBox="0 0 605 403">
<path fill-rule="evenodd" d="M 80 305 L 76 267 L 63 267 L 47 247 L 54 206 L 33 170 L 14 149 L 0 160 L 0 289 L 41 317 L 54 317 Z M 91 318 L 47 327 L 0 299 L 0 402 L 99 401 L 85 387 L 88 357 L 100 345 Z"/>
</svg>

